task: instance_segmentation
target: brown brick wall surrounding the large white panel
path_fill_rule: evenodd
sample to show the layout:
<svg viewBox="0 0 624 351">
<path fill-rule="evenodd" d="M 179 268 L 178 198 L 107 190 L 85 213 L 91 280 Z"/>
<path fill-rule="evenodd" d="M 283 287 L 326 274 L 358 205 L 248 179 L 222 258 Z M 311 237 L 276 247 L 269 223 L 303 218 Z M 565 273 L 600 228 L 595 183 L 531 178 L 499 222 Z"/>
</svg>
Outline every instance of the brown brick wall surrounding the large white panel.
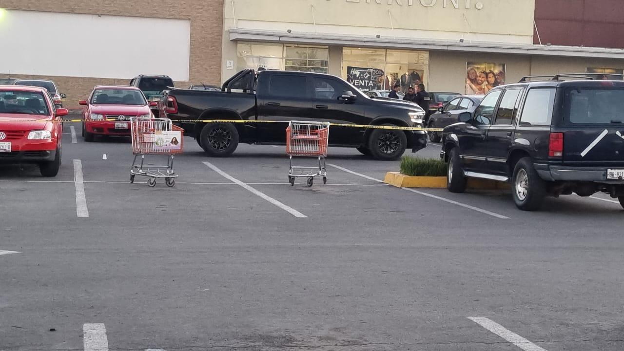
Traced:
<svg viewBox="0 0 624 351">
<path fill-rule="evenodd" d="M 189 19 L 190 82 L 219 85 L 221 82 L 221 50 L 223 35 L 223 0 L 0 0 L 0 8 L 28 11 L 103 14 L 171 19 Z M 61 33 L 62 36 L 62 33 Z M 0 77 L 9 77 L 0 67 Z M 130 79 L 94 77 L 27 76 L 11 74 L 11 78 L 51 79 L 67 94 L 66 105 L 77 107 L 91 89 L 100 84 L 128 84 Z M 175 82 L 188 87 L 190 82 Z"/>
</svg>

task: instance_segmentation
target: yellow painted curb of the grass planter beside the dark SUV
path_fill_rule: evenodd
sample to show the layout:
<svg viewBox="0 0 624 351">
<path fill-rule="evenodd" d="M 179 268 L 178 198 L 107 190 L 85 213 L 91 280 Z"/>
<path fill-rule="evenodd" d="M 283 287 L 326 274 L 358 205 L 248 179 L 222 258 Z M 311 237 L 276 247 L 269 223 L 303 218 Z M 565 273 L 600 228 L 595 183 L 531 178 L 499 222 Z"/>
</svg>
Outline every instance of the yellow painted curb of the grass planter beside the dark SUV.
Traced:
<svg viewBox="0 0 624 351">
<path fill-rule="evenodd" d="M 384 178 L 384 183 L 395 187 L 442 189 L 446 188 L 446 177 L 411 177 L 401 174 L 401 172 L 388 172 Z M 482 190 L 507 190 L 509 184 L 494 180 L 469 178 L 467 187 Z"/>
</svg>

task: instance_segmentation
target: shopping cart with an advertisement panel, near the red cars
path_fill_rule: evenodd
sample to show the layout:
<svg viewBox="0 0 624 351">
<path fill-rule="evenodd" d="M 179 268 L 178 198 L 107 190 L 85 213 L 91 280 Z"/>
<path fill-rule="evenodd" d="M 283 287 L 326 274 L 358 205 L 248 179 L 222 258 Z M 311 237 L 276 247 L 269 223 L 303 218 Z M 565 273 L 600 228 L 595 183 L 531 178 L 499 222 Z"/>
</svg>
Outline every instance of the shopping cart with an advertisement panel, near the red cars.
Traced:
<svg viewBox="0 0 624 351">
<path fill-rule="evenodd" d="M 175 185 L 174 178 L 178 175 L 173 172 L 173 155 L 182 152 L 182 128 L 173 126 L 171 120 L 166 118 L 130 118 L 130 131 L 134 154 L 130 167 L 130 183 L 134 183 L 135 175 L 142 175 L 149 177 L 147 184 L 150 187 L 156 185 L 156 178 L 164 178 L 168 187 Z M 146 165 L 145 155 L 167 156 L 167 165 Z M 139 156 L 141 162 L 137 164 Z"/>
</svg>

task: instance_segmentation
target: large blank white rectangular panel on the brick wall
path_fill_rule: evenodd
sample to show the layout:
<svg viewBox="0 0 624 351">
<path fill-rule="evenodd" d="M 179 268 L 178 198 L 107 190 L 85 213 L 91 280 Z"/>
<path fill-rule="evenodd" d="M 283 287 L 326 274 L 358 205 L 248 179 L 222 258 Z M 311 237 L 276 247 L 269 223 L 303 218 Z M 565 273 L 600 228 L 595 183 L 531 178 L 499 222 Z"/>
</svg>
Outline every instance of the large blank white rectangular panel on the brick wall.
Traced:
<svg viewBox="0 0 624 351">
<path fill-rule="evenodd" d="M 188 81 L 190 21 L 5 10 L 0 72 Z"/>
</svg>

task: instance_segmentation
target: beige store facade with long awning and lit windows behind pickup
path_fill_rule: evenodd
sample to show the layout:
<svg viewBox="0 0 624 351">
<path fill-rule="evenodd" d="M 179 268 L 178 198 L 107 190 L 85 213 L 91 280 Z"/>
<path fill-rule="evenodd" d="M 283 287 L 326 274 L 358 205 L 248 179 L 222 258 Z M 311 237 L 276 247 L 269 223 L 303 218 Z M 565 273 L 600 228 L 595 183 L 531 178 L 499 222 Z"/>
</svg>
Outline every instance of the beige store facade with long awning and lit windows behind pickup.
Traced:
<svg viewBox="0 0 624 351">
<path fill-rule="evenodd" d="M 600 11 L 615 6 L 587 6 L 596 1 Z M 570 27 L 592 20 L 583 6 L 570 9 Z M 523 76 L 624 68 L 617 43 L 540 44 L 562 37 L 552 18 L 562 11 L 550 0 L 225 0 L 223 11 L 223 79 L 263 67 L 334 74 L 363 91 L 422 82 L 429 91 L 484 94 Z"/>
</svg>

